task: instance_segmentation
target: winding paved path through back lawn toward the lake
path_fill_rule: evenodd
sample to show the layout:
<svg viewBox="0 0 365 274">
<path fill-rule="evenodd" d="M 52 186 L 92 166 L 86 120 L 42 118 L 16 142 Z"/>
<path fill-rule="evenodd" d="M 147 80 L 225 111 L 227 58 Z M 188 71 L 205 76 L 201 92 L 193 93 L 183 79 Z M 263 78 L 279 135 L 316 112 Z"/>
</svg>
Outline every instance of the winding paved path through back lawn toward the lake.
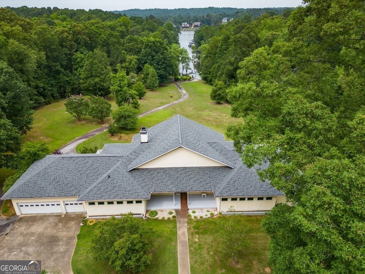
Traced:
<svg viewBox="0 0 365 274">
<path fill-rule="evenodd" d="M 148 114 L 151 114 L 151 113 L 154 113 L 156 111 L 159 111 L 159 110 L 162 110 L 162 109 L 166 109 L 166 107 L 170 107 L 170 106 L 173 106 L 174 104 L 177 104 L 177 103 L 180 103 L 180 102 L 183 102 L 185 101 L 186 99 L 188 99 L 189 95 L 188 93 L 184 90 L 183 87 L 181 87 L 181 85 L 179 85 L 178 83 L 176 83 L 175 81 L 173 81 L 174 85 L 176 85 L 176 87 L 178 88 L 178 90 L 180 91 L 181 93 L 181 98 L 174 101 L 174 102 L 171 102 L 171 103 L 168 103 L 168 104 L 165 104 L 161 107 L 157 107 L 155 109 L 152 109 L 152 110 L 149 110 L 149 111 L 146 111 L 146 112 L 143 112 L 141 114 L 138 115 L 139 118 L 143 117 L 143 116 L 146 116 Z M 108 130 L 108 127 L 109 125 L 105 125 L 105 126 L 102 126 L 101 128 L 97 128 L 97 129 L 94 129 L 92 130 L 91 132 L 88 132 L 80 137 L 77 137 L 76 139 L 72 140 L 71 142 L 69 142 L 68 144 L 62 146 L 60 148 L 61 152 L 64 153 L 64 154 L 76 154 L 76 146 L 78 146 L 79 144 L 81 144 L 82 142 L 88 140 L 89 138 L 91 137 L 94 137 L 95 135 L 99 134 L 99 133 L 102 133 L 104 132 L 105 130 Z"/>
</svg>

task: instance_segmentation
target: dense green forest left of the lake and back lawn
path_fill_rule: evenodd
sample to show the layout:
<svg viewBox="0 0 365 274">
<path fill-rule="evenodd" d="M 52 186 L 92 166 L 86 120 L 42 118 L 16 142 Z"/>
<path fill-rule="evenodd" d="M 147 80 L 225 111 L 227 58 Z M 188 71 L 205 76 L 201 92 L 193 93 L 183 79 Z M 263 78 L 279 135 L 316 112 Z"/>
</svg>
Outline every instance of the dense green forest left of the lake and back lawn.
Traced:
<svg viewBox="0 0 365 274">
<path fill-rule="evenodd" d="M 178 30 L 153 16 L 21 7 L 0 8 L 0 22 L 0 167 L 19 152 L 34 107 L 81 92 L 106 96 L 120 87 L 115 73 L 129 77 L 123 95 L 135 101 L 129 88 L 143 69 L 151 87 L 178 75 Z"/>
</svg>

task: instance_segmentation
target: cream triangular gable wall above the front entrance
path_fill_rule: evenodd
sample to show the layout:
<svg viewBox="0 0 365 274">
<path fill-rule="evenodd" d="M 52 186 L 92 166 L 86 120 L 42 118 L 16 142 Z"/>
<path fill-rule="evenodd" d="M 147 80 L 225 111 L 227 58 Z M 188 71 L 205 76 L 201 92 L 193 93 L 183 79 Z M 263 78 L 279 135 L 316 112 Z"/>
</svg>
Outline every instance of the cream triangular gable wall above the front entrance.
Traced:
<svg viewBox="0 0 365 274">
<path fill-rule="evenodd" d="M 136 168 L 156 167 L 222 167 L 225 164 L 200 155 L 189 149 L 178 147 Z"/>
</svg>

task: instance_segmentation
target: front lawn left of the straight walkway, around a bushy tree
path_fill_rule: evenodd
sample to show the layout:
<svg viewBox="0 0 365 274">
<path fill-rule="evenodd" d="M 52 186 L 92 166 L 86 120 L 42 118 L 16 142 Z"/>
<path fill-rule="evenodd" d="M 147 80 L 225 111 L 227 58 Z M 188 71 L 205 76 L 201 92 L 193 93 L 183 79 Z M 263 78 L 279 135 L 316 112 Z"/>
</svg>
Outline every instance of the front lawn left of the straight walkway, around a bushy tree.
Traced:
<svg viewBox="0 0 365 274">
<path fill-rule="evenodd" d="M 176 221 L 147 219 L 147 224 L 154 231 L 155 247 L 151 264 L 143 274 L 166 273 L 177 274 L 177 229 Z M 97 223 L 84 225 L 77 235 L 76 248 L 72 256 L 71 266 L 74 274 L 115 273 L 106 261 L 95 261 L 89 251 L 93 235 L 97 231 Z"/>
</svg>

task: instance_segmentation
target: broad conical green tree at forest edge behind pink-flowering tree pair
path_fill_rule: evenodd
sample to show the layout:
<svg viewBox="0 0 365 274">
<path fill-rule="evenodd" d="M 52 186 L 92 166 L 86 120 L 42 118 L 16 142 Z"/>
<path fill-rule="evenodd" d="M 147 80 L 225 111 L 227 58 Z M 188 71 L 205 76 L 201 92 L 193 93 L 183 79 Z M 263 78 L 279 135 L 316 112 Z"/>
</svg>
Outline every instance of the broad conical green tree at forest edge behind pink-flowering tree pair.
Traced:
<svg viewBox="0 0 365 274">
<path fill-rule="evenodd" d="M 95 49 L 85 57 L 81 72 L 81 87 L 88 95 L 107 96 L 110 94 L 110 73 L 107 54 Z"/>
</svg>

